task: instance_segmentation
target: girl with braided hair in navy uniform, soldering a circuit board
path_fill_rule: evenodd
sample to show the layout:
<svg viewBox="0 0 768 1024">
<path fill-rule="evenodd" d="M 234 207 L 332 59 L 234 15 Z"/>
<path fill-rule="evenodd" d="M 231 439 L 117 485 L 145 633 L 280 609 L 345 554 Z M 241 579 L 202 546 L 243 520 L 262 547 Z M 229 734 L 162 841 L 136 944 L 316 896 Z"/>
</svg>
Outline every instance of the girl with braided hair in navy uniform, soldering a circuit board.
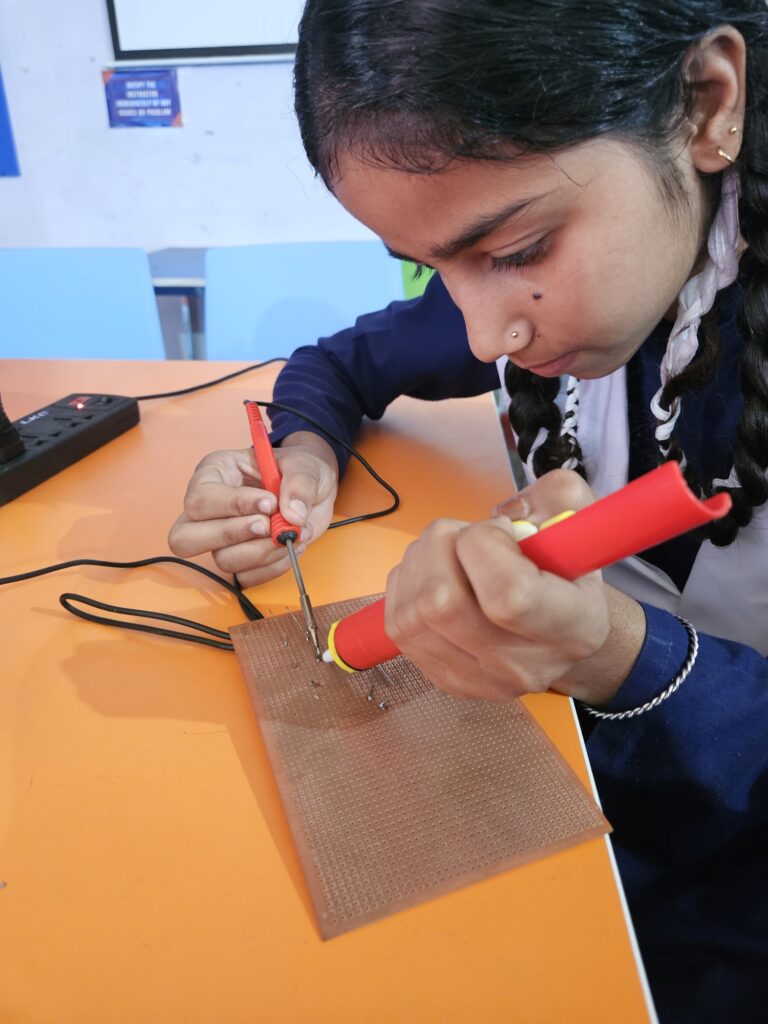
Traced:
<svg viewBox="0 0 768 1024">
<path fill-rule="evenodd" d="M 531 479 L 507 517 L 409 549 L 387 632 L 456 695 L 583 702 L 662 1021 L 764 1020 L 765 0 L 309 0 L 296 110 L 346 209 L 437 273 L 295 352 L 275 399 L 351 439 L 398 394 L 498 387 L 498 364 Z M 344 455 L 273 427 L 281 509 L 316 540 Z M 669 459 L 730 493 L 724 521 L 577 583 L 520 555 L 510 519 Z M 258 584 L 288 567 L 273 506 L 249 453 L 216 453 L 171 548 Z"/>
</svg>

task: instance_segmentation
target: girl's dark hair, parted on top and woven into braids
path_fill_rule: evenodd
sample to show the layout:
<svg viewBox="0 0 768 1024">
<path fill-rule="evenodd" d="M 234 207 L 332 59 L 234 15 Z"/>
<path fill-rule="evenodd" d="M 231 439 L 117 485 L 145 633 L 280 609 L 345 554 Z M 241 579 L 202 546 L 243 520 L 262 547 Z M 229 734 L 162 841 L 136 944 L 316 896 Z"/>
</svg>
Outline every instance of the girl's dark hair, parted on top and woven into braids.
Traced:
<svg viewBox="0 0 768 1024">
<path fill-rule="evenodd" d="M 746 111 L 738 158 L 749 248 L 739 264 L 743 409 L 733 443 L 732 512 L 708 527 L 730 544 L 768 500 L 768 6 L 766 0 L 308 0 L 296 51 L 296 113 L 310 163 L 332 187 L 345 151 L 374 165 L 428 174 L 457 159 L 508 161 L 612 135 L 653 166 L 680 213 L 674 161 L 691 110 L 686 56 L 731 25 L 748 46 Z M 719 175 L 712 176 L 713 195 Z M 717 366 L 702 351 L 668 381 L 660 402 L 698 387 Z M 564 463 L 584 473 L 563 433 L 557 379 L 511 364 L 510 420 L 537 475 Z M 669 458 L 682 453 L 671 438 Z"/>
</svg>

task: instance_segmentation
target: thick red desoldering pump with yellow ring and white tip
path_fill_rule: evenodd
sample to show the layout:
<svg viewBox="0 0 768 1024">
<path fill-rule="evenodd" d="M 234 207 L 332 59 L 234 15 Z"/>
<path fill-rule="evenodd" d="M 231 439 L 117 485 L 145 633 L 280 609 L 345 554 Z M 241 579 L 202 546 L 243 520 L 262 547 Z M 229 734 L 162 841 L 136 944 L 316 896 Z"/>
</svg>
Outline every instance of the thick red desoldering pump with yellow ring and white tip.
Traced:
<svg viewBox="0 0 768 1024">
<path fill-rule="evenodd" d="M 688 488 L 677 463 L 666 463 L 621 490 L 520 541 L 520 550 L 540 569 L 564 580 L 604 568 L 622 558 L 720 519 L 730 496 L 707 501 Z M 324 662 L 361 672 L 400 653 L 384 632 L 384 598 L 331 627 Z"/>
</svg>

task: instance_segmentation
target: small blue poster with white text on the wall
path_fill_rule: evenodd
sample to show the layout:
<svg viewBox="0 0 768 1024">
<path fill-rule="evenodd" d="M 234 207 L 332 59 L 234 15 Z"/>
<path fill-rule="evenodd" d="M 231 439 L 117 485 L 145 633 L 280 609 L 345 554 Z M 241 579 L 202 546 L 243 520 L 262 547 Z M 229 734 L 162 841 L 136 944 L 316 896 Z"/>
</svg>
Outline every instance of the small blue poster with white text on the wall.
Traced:
<svg viewBox="0 0 768 1024">
<path fill-rule="evenodd" d="M 176 72 L 103 71 L 111 128 L 180 128 Z"/>
</svg>

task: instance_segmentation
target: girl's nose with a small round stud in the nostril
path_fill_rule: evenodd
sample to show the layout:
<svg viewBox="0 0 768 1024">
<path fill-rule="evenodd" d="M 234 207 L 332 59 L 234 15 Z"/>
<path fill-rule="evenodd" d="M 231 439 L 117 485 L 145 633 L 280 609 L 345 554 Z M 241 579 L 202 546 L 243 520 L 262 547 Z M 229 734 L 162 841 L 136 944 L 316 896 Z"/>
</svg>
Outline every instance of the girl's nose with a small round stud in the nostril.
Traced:
<svg viewBox="0 0 768 1024">
<path fill-rule="evenodd" d="M 469 347 L 481 362 L 519 352 L 534 340 L 532 324 L 515 308 L 509 292 L 449 283 L 444 274 L 443 283 L 464 315 Z"/>
</svg>

